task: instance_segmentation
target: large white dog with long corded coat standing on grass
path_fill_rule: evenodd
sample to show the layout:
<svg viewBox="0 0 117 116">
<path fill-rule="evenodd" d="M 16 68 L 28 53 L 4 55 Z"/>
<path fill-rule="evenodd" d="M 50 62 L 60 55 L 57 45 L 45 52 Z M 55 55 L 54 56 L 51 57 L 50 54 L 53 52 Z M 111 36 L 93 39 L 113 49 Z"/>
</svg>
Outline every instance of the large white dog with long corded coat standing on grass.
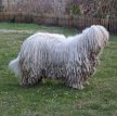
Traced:
<svg viewBox="0 0 117 116">
<path fill-rule="evenodd" d="M 80 90 L 94 74 L 108 38 L 108 31 L 100 25 L 68 38 L 38 33 L 24 41 L 17 59 L 9 66 L 24 87 L 35 86 L 42 78 L 54 78 Z"/>
</svg>

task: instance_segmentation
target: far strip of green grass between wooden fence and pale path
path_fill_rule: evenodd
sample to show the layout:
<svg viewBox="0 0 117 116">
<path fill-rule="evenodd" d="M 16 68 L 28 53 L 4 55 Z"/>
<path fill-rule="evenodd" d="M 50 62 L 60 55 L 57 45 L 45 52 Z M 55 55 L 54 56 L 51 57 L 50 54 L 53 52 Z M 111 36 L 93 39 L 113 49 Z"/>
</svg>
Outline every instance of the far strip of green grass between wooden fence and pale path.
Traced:
<svg viewBox="0 0 117 116">
<path fill-rule="evenodd" d="M 16 29 L 16 30 L 31 30 L 31 31 L 49 31 L 56 34 L 75 35 L 78 30 L 74 28 L 65 28 L 65 27 L 55 27 L 55 26 L 43 26 L 43 25 L 35 25 L 35 24 L 18 24 L 18 23 L 1 23 L 0 29 Z"/>
</svg>

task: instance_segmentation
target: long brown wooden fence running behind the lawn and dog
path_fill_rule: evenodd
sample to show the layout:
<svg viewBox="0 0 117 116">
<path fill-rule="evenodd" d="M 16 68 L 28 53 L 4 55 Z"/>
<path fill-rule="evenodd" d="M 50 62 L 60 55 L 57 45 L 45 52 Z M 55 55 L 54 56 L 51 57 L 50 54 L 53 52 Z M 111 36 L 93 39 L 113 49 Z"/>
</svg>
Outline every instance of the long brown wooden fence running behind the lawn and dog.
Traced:
<svg viewBox="0 0 117 116">
<path fill-rule="evenodd" d="M 40 14 L 27 14 L 27 13 L 0 13 L 0 22 L 17 22 L 17 23 L 36 23 L 44 25 L 57 25 L 76 27 L 79 30 L 84 29 L 91 25 L 103 25 L 108 29 L 110 34 L 117 35 L 117 20 L 98 18 L 88 16 L 54 16 L 54 15 L 40 15 Z"/>
</svg>

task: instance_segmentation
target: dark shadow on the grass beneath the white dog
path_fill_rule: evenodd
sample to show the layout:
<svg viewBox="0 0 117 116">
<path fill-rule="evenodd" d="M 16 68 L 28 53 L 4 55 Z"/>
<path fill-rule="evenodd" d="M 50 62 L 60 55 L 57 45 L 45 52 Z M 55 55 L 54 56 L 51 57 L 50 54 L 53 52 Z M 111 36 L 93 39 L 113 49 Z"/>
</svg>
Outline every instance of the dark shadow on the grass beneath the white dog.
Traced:
<svg viewBox="0 0 117 116">
<path fill-rule="evenodd" d="M 13 80 L 13 79 L 12 79 Z M 16 79 L 14 79 L 13 81 L 9 81 L 9 82 L 4 82 L 1 85 L 2 91 L 14 91 L 14 92 L 22 92 L 23 91 L 30 91 L 30 92 L 35 92 L 35 91 L 41 91 L 41 92 L 53 92 L 56 91 L 57 92 L 68 92 L 70 94 L 70 92 L 74 93 L 80 93 L 80 92 L 88 92 L 88 91 L 93 91 L 94 90 L 94 83 L 91 83 L 90 86 L 86 87 L 83 90 L 77 90 L 70 87 L 65 86 L 62 81 L 57 81 L 57 80 L 47 80 L 44 82 L 40 82 L 36 86 L 32 87 L 22 87 L 20 86 L 18 82 L 15 81 Z"/>
</svg>

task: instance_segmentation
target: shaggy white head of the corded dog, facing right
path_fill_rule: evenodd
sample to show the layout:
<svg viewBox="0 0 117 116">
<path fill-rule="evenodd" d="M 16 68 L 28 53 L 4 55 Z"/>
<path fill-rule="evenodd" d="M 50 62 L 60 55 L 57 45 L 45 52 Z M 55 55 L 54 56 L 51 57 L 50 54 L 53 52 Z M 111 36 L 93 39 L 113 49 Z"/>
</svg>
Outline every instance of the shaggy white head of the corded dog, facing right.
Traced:
<svg viewBox="0 0 117 116">
<path fill-rule="evenodd" d="M 99 55 L 109 39 L 108 31 L 101 25 L 92 25 L 84 29 L 82 35 L 86 38 L 86 41 L 88 41 L 89 51 L 96 55 Z"/>
</svg>

